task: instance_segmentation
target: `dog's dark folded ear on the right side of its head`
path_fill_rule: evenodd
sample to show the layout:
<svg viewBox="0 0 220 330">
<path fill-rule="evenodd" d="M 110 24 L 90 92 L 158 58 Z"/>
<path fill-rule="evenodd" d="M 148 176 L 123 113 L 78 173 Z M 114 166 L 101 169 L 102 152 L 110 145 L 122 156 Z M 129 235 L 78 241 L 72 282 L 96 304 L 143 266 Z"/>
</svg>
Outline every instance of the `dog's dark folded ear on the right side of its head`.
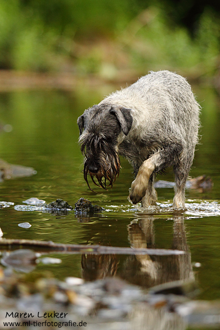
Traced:
<svg viewBox="0 0 220 330">
<path fill-rule="evenodd" d="M 128 135 L 132 128 L 133 117 L 132 110 L 122 107 L 111 107 L 110 113 L 114 114 L 121 125 L 122 132 Z"/>
</svg>

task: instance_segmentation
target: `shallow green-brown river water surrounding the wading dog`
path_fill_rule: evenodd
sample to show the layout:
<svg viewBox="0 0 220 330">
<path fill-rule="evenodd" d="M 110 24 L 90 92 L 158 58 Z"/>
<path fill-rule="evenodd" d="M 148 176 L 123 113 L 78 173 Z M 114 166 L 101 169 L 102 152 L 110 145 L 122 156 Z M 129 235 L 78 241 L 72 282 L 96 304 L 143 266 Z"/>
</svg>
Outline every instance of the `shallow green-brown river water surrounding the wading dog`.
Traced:
<svg viewBox="0 0 220 330">
<path fill-rule="evenodd" d="M 120 176 L 108 191 L 91 192 L 84 181 L 83 157 L 77 144 L 77 117 L 103 95 L 107 86 L 73 92 L 34 90 L 0 94 L 0 158 L 33 167 L 37 174 L 0 183 L 0 200 L 14 203 L 0 209 L 0 227 L 8 239 L 57 243 L 102 244 L 121 247 L 178 248 L 187 257 L 81 256 L 53 254 L 62 264 L 38 264 L 34 272 L 86 280 L 117 274 L 144 287 L 178 279 L 196 278 L 199 299 L 220 298 L 220 99 L 211 88 L 195 87 L 201 114 L 201 140 L 191 176 L 211 176 L 211 190 L 186 191 L 186 210 L 172 209 L 172 188 L 157 189 L 158 203 L 143 212 L 127 199 L 133 179 L 131 166 L 121 160 Z M 7 125 L 7 126 L 5 126 Z M 5 128 L 6 127 L 6 128 Z M 174 180 L 172 171 L 159 179 Z M 28 198 L 46 203 L 62 198 L 69 205 L 81 197 L 106 210 L 91 217 L 19 210 Z M 27 207 L 28 205 L 26 205 Z M 20 209 L 22 209 L 20 207 Z M 18 225 L 29 222 L 30 228 Z M 194 267 L 200 263 L 200 267 Z"/>
</svg>

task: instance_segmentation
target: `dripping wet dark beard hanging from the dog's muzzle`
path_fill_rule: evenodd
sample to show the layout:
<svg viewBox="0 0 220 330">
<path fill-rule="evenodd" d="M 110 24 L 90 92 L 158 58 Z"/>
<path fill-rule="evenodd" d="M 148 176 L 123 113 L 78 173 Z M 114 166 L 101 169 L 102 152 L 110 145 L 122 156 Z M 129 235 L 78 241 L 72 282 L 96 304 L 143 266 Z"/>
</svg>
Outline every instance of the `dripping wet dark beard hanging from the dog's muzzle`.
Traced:
<svg viewBox="0 0 220 330">
<path fill-rule="evenodd" d="M 84 179 L 88 184 L 88 188 L 93 191 L 88 183 L 88 175 L 96 186 L 106 190 L 107 187 L 112 187 L 120 171 L 120 159 L 114 148 L 110 146 L 107 140 L 94 136 L 92 139 L 83 141 L 81 151 L 86 157 Z M 97 173 L 89 171 L 90 164 L 95 164 Z"/>
</svg>

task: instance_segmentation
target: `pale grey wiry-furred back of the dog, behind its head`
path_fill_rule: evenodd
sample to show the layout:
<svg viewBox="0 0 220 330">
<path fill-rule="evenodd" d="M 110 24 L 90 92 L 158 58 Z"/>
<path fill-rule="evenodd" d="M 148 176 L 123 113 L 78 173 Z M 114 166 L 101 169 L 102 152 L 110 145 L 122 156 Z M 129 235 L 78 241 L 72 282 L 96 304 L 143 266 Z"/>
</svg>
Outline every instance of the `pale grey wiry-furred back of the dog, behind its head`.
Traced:
<svg viewBox="0 0 220 330">
<path fill-rule="evenodd" d="M 109 102 L 135 112 L 134 128 L 141 123 L 150 132 L 157 132 L 160 126 L 163 134 L 171 130 L 195 145 L 198 142 L 200 107 L 187 80 L 176 73 L 151 72 L 110 94 L 100 104 Z"/>
</svg>

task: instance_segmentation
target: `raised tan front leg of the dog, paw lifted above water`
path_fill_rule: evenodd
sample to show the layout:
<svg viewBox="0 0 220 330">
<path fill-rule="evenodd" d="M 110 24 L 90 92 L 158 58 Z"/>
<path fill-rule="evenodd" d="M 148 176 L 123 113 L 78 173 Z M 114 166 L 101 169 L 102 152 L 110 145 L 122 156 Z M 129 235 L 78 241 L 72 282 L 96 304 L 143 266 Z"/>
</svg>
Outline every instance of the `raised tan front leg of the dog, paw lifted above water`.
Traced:
<svg viewBox="0 0 220 330">
<path fill-rule="evenodd" d="M 148 182 L 155 168 L 155 155 L 145 160 L 138 170 L 135 180 L 132 182 L 129 198 L 133 204 L 137 204 L 145 196 Z"/>
</svg>

